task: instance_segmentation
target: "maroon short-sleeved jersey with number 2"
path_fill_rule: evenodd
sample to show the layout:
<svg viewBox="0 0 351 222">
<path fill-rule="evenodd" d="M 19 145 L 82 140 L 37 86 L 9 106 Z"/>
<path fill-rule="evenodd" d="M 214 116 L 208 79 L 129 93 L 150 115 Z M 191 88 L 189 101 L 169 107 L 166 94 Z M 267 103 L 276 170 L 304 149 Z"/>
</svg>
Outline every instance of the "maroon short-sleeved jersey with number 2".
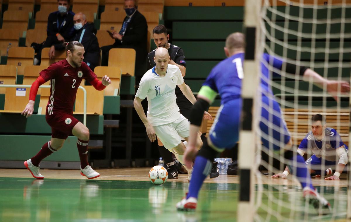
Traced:
<svg viewBox="0 0 351 222">
<path fill-rule="evenodd" d="M 72 67 L 66 59 L 51 64 L 40 72 L 40 76 L 50 81 L 50 97 L 46 113 L 52 115 L 55 111 L 73 113 L 73 105 L 77 90 L 82 79 L 91 82 L 97 78 L 89 66 L 82 62 L 80 67 Z"/>
</svg>

